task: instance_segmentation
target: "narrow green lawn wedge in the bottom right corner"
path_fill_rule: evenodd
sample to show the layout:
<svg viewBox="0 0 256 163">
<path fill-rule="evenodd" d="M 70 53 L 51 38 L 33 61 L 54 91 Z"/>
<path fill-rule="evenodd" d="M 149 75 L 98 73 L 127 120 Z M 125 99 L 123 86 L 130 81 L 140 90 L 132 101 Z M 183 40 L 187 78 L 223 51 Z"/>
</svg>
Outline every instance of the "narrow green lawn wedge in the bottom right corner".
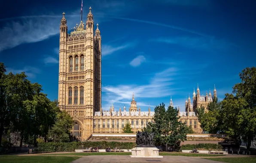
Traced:
<svg viewBox="0 0 256 163">
<path fill-rule="evenodd" d="M 256 157 L 226 157 L 226 158 L 205 158 L 208 160 L 222 161 L 225 163 L 256 163 Z"/>
</svg>

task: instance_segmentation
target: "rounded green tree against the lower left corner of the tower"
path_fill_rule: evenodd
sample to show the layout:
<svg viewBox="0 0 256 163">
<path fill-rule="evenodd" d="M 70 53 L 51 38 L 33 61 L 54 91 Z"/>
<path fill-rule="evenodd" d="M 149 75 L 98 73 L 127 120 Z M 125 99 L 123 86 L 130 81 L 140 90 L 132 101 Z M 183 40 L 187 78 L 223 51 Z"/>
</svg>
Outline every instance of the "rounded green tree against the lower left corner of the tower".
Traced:
<svg viewBox="0 0 256 163">
<path fill-rule="evenodd" d="M 74 124 L 73 118 L 65 111 L 60 111 L 57 115 L 57 121 L 49 130 L 49 138 L 53 142 L 69 142 L 70 130 Z"/>
</svg>

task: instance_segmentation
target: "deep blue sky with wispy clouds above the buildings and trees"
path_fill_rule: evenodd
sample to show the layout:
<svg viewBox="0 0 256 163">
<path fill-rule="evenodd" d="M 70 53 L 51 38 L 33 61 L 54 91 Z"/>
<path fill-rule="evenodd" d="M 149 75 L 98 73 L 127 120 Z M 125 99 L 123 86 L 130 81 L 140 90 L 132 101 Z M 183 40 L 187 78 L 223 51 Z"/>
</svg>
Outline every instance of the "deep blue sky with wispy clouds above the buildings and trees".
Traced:
<svg viewBox="0 0 256 163">
<path fill-rule="evenodd" d="M 220 100 L 256 66 L 254 0 L 84 0 L 102 35 L 102 107 L 168 105 L 185 110 L 186 97 L 200 93 Z M 59 24 L 80 21 L 81 0 L 6 1 L 0 11 L 0 62 L 26 72 L 58 99 Z M 96 29 L 96 28 L 94 28 Z M 70 31 L 69 31 L 70 32 Z M 191 96 L 192 97 L 192 96 Z M 151 107 L 151 108 L 152 108 Z"/>
</svg>

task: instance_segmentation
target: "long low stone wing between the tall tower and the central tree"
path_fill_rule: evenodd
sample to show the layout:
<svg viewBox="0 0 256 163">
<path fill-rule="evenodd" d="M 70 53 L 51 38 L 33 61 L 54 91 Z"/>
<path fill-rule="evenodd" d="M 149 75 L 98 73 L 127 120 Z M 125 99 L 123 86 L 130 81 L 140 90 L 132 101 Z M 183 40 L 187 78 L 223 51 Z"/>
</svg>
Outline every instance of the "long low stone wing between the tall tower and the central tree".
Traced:
<svg viewBox="0 0 256 163">
<path fill-rule="evenodd" d="M 150 107 L 148 112 L 138 111 L 137 103 L 134 100 L 134 94 L 131 100 L 129 110 L 121 106 L 119 110 L 115 111 L 114 106 L 110 107 L 109 111 L 95 112 L 93 120 L 94 133 L 123 133 L 123 128 L 127 123 L 131 124 L 132 131 L 137 132 L 142 130 L 146 125 L 152 121 L 155 112 L 151 112 Z"/>
</svg>

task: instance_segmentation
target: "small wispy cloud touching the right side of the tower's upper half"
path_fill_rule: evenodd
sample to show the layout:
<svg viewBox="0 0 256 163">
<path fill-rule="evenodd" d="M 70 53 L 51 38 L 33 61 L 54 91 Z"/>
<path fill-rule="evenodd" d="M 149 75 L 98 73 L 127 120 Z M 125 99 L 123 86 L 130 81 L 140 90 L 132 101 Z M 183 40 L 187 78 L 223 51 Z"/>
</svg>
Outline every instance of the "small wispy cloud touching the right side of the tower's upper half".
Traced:
<svg viewBox="0 0 256 163">
<path fill-rule="evenodd" d="M 101 47 L 101 55 L 109 55 L 109 54 L 112 54 L 116 51 L 119 51 L 119 50 L 122 50 L 122 49 L 125 49 L 125 48 L 129 48 L 129 47 L 132 47 L 135 45 L 135 42 L 129 42 L 129 43 L 126 43 L 126 44 L 123 44 L 123 45 L 118 45 L 118 46 L 113 46 L 113 45 L 102 45 Z"/>
</svg>

